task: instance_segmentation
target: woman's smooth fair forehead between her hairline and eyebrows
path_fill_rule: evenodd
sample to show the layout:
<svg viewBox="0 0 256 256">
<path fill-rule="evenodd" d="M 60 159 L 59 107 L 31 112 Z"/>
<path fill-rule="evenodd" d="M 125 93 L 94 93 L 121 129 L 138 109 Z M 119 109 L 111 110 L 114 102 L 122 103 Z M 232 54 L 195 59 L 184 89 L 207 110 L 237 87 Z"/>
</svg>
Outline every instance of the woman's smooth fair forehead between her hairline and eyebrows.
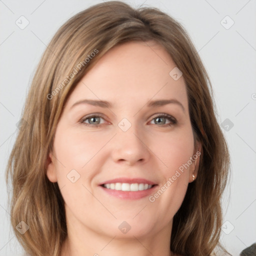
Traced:
<svg viewBox="0 0 256 256">
<path fill-rule="evenodd" d="M 169 72 L 176 65 L 154 41 L 131 41 L 114 46 L 83 76 L 68 101 L 83 98 L 140 102 L 176 98 L 187 107 L 185 82 Z M 68 103 L 68 102 L 67 102 Z"/>
</svg>

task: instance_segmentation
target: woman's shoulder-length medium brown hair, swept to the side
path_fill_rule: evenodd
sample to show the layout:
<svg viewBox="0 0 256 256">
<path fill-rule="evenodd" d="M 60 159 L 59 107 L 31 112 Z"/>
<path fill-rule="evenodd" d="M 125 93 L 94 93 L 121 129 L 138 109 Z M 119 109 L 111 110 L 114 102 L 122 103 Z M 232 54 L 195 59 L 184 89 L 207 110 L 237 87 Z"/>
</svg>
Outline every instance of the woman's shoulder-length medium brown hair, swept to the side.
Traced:
<svg viewBox="0 0 256 256">
<path fill-rule="evenodd" d="M 185 29 L 168 14 L 108 1 L 77 13 L 58 29 L 27 95 L 6 181 L 9 176 L 13 187 L 11 223 L 28 254 L 59 256 L 67 236 L 61 188 L 46 177 L 46 159 L 68 96 L 106 51 L 123 42 L 149 40 L 162 45 L 182 71 L 194 137 L 202 145 L 197 178 L 188 184 L 173 217 L 170 249 L 180 255 L 207 256 L 215 255 L 216 247 L 222 248 L 220 202 L 229 154 L 215 117 L 206 70 Z M 85 61 L 95 49 L 98 52 Z M 71 77 L 74 69 L 77 73 Z M 24 234 L 15 228 L 20 221 L 29 226 Z"/>
</svg>

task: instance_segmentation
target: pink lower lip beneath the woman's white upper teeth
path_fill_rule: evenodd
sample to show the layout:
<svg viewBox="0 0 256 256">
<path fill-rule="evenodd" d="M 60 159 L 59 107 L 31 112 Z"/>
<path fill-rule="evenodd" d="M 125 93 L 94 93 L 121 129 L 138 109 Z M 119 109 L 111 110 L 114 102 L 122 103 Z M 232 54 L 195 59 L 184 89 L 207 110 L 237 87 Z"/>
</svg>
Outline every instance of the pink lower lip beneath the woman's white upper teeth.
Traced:
<svg viewBox="0 0 256 256">
<path fill-rule="evenodd" d="M 152 193 L 152 191 L 155 189 L 155 187 L 157 187 L 157 185 L 153 185 L 149 189 L 138 190 L 138 191 L 122 191 L 122 190 L 109 189 L 103 186 L 100 186 L 100 187 L 103 189 L 103 191 L 105 191 L 109 195 L 118 197 L 120 199 L 136 200 L 136 199 L 143 198 L 145 196 L 149 196 Z"/>
</svg>

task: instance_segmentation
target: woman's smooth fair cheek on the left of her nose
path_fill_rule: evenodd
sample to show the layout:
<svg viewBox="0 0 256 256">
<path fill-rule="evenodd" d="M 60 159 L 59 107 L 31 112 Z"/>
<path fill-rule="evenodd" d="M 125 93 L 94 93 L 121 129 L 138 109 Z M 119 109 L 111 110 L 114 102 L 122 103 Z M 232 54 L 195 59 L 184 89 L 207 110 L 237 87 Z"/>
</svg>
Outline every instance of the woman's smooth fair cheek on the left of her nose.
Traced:
<svg viewBox="0 0 256 256">
<path fill-rule="evenodd" d="M 66 205 L 79 211 L 95 203 L 90 182 L 98 169 L 97 153 L 109 138 L 59 126 L 54 138 L 57 182 Z"/>
</svg>

